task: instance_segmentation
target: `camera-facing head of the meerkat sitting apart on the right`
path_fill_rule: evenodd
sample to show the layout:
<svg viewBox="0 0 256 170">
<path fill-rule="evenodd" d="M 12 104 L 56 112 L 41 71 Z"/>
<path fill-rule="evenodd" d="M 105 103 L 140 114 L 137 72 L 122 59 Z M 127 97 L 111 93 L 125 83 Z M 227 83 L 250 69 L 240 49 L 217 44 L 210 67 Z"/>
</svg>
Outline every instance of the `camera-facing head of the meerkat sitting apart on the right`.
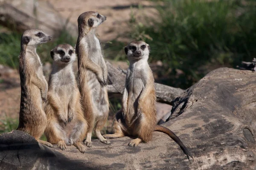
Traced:
<svg viewBox="0 0 256 170">
<path fill-rule="evenodd" d="M 149 51 L 149 45 L 143 41 L 133 41 L 125 47 L 125 54 L 129 60 L 148 60 Z"/>
</svg>

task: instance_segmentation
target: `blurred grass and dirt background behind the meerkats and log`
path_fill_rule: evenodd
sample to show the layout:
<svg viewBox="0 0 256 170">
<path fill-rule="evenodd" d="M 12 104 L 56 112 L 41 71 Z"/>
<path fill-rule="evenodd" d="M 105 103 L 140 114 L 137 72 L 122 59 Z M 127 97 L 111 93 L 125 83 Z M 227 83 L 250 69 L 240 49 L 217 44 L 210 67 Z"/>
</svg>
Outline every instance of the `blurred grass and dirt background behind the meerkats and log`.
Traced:
<svg viewBox="0 0 256 170">
<path fill-rule="evenodd" d="M 97 36 L 109 62 L 127 69 L 125 45 L 143 40 L 151 47 L 155 81 L 186 89 L 216 68 L 252 61 L 255 9 L 256 0 L 0 0 L 0 133 L 18 125 L 18 55 L 21 34 L 28 28 L 54 37 L 37 50 L 48 78 L 49 51 L 58 44 L 75 45 L 79 15 L 98 11 L 107 16 Z M 120 96 L 109 98 L 111 113 L 103 133 L 111 130 L 113 115 L 121 108 Z M 163 114 L 171 108 L 158 103 Z"/>
</svg>

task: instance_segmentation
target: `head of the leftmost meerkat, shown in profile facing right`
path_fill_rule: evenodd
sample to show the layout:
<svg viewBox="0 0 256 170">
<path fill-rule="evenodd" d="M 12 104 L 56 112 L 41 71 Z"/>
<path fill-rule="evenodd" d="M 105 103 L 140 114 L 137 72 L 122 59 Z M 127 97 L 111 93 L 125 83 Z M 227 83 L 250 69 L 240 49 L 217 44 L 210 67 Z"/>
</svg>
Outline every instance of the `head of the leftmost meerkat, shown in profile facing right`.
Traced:
<svg viewBox="0 0 256 170">
<path fill-rule="evenodd" d="M 45 34 L 42 30 L 28 29 L 22 34 L 21 45 L 26 44 L 36 46 L 49 40 L 52 40 L 52 37 Z"/>
</svg>

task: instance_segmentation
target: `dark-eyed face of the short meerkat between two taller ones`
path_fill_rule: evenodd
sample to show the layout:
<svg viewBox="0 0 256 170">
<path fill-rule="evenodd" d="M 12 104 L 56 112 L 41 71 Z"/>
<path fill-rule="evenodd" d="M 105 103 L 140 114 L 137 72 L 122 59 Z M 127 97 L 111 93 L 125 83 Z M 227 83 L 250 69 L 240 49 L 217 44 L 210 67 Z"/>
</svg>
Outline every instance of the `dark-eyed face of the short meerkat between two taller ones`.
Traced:
<svg viewBox="0 0 256 170">
<path fill-rule="evenodd" d="M 68 64 L 76 60 L 75 49 L 69 44 L 60 44 L 51 50 L 54 62 Z"/>
</svg>

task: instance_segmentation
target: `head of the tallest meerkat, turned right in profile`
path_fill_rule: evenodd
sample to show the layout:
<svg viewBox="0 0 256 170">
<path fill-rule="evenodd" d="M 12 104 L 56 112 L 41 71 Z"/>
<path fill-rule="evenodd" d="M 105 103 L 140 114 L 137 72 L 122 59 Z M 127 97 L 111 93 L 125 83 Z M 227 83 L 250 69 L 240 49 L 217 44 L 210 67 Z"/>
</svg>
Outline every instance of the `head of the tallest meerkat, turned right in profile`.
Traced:
<svg viewBox="0 0 256 170">
<path fill-rule="evenodd" d="M 96 28 L 107 19 L 106 16 L 99 14 L 99 12 L 87 11 L 82 13 L 78 17 L 79 31 L 86 29 L 90 31 L 90 28 Z"/>
</svg>

